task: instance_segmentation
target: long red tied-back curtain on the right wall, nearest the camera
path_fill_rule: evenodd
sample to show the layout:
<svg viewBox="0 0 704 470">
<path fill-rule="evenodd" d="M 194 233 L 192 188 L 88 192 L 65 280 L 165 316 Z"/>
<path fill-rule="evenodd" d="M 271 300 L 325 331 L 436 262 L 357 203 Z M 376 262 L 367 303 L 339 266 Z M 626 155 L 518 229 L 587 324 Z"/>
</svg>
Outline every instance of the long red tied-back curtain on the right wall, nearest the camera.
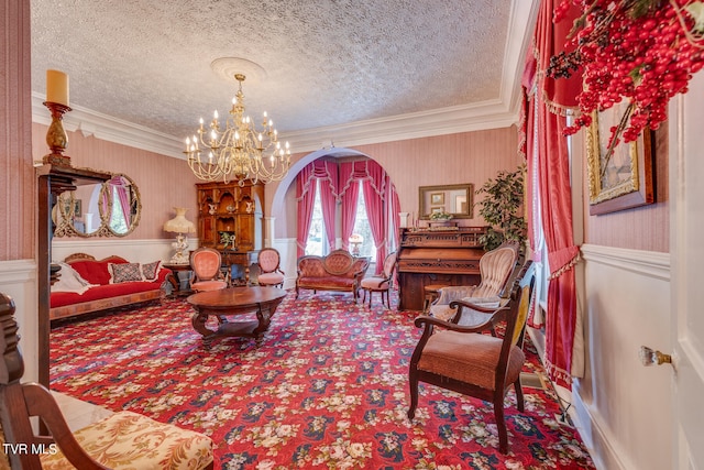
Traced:
<svg viewBox="0 0 704 470">
<path fill-rule="evenodd" d="M 540 4 L 534 48 L 529 51 L 524 75 L 527 95 L 532 97 L 524 122 L 528 174 L 535 171 L 537 175 L 537 182 L 528 178 L 528 196 L 531 197 L 536 192 L 540 194 L 541 221 L 551 271 L 546 321 L 546 369 L 556 383 L 570 387 L 578 323 L 572 266 L 578 260 L 579 248 L 573 242 L 570 155 L 562 130 L 566 127 L 566 113 L 576 106 L 575 97 L 582 85 L 579 74 L 570 79 L 557 80 L 546 76 L 550 57 L 563 50 L 572 20 L 579 14 L 578 9 L 572 8 L 571 15 L 553 24 L 552 14 L 558 3 L 559 0 L 543 0 Z M 535 183 L 538 188 L 531 187 Z M 531 242 L 535 241 L 537 223 L 537 220 L 529 221 Z"/>
</svg>

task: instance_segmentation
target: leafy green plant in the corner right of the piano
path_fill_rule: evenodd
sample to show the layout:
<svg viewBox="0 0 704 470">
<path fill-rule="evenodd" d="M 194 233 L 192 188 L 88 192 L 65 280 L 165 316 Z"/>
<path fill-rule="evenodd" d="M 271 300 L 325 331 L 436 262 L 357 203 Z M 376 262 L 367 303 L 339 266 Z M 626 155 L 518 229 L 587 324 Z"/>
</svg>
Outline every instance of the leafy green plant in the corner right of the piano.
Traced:
<svg viewBox="0 0 704 470">
<path fill-rule="evenodd" d="M 520 165 L 514 172 L 501 171 L 496 178 L 487 179 L 476 190 L 484 198 L 477 203 L 479 212 L 490 225 L 486 234 L 480 237 L 484 250 L 491 251 L 505 240 L 517 240 L 522 249 L 526 242 L 527 223 L 522 217 L 524 172 Z"/>
</svg>

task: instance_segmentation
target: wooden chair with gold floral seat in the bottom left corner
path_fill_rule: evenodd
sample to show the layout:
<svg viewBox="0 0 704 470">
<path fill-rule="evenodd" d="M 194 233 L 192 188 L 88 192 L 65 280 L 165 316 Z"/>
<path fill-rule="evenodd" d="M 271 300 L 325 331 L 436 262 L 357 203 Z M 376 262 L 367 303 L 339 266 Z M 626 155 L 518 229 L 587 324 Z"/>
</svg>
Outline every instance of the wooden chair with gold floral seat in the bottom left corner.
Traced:
<svg viewBox="0 0 704 470">
<path fill-rule="evenodd" d="M 0 467 L 7 457 L 11 468 L 25 470 L 213 468 L 209 437 L 132 412 L 114 413 L 73 434 L 48 390 L 20 383 L 24 362 L 14 310 L 14 302 L 0 294 L 0 424 L 7 444 Z M 31 416 L 40 417 L 47 435 L 34 433 Z"/>
</svg>

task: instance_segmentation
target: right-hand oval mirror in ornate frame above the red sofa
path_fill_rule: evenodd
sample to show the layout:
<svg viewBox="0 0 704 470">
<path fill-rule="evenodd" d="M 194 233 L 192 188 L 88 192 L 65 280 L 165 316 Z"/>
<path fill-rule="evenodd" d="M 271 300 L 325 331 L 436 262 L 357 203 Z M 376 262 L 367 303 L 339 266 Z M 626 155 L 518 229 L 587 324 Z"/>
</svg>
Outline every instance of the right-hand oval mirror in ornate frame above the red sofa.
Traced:
<svg viewBox="0 0 704 470">
<path fill-rule="evenodd" d="M 100 205 L 107 217 L 107 228 L 116 237 L 132 233 L 140 223 L 142 201 L 140 190 L 127 175 L 117 174 L 102 185 Z"/>
</svg>

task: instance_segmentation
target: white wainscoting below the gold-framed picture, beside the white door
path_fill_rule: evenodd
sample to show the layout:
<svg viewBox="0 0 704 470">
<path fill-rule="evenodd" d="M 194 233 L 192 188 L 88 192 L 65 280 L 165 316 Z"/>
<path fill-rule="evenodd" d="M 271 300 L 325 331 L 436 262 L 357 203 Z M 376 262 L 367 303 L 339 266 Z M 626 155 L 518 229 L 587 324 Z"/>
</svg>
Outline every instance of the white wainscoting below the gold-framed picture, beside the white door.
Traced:
<svg viewBox="0 0 704 470">
<path fill-rule="evenodd" d="M 586 373 L 573 384 L 581 434 L 598 468 L 671 463 L 670 365 L 641 365 L 640 346 L 671 351 L 670 255 L 582 245 Z"/>
</svg>

